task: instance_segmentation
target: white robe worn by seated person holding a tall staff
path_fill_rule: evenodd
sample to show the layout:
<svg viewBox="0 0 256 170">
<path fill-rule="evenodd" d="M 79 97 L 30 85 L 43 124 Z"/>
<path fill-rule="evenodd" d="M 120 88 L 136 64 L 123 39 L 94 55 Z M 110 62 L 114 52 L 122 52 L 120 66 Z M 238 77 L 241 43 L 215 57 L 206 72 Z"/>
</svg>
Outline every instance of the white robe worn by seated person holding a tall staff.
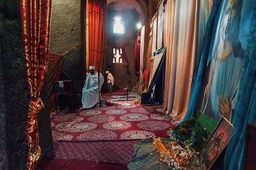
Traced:
<svg viewBox="0 0 256 170">
<path fill-rule="evenodd" d="M 104 82 L 104 77 L 100 73 L 100 88 Z M 98 74 L 87 74 L 85 85 L 82 88 L 82 108 L 92 108 L 100 101 Z"/>
</svg>

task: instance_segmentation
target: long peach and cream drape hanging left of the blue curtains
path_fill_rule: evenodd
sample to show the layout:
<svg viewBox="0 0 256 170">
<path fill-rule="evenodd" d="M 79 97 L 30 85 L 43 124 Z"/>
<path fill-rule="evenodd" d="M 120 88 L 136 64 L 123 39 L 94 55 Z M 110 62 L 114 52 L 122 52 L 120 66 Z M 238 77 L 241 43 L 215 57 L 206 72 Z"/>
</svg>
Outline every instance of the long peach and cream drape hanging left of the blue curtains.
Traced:
<svg viewBox="0 0 256 170">
<path fill-rule="evenodd" d="M 166 25 L 166 87 L 164 107 L 181 120 L 186 114 L 193 74 L 193 57 L 198 1 L 167 1 Z M 186 8 L 186 10 L 181 10 Z"/>
</svg>

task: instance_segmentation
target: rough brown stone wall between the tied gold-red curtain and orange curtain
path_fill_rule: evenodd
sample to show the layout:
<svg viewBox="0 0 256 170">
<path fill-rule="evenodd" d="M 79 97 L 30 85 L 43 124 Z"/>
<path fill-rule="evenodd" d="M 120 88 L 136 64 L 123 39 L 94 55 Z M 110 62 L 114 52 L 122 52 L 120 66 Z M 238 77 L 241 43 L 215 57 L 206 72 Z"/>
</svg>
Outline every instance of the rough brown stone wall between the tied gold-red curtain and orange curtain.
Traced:
<svg viewBox="0 0 256 170">
<path fill-rule="evenodd" d="M 80 0 L 52 1 L 50 52 L 65 54 L 80 43 Z M 80 45 L 63 56 L 62 71 L 74 82 L 75 93 L 82 91 Z"/>
</svg>

